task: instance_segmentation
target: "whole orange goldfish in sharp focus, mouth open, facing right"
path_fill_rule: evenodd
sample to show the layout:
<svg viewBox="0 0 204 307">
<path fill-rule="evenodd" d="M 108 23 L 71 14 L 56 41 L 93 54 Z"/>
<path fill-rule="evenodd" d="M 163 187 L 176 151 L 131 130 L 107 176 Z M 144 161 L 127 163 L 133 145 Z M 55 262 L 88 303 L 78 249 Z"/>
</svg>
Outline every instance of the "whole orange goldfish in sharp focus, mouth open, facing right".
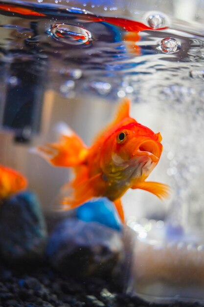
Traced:
<svg viewBox="0 0 204 307">
<path fill-rule="evenodd" d="M 72 167 L 74 171 L 74 179 L 62 187 L 62 191 L 69 191 L 61 200 L 65 209 L 106 197 L 124 223 L 121 197 L 129 188 L 146 190 L 159 199 L 168 196 L 168 185 L 146 181 L 162 153 L 161 134 L 131 118 L 130 106 L 128 98 L 119 103 L 114 120 L 97 135 L 91 147 L 72 129 L 63 128 L 58 142 L 36 148 L 51 165 Z"/>
</svg>

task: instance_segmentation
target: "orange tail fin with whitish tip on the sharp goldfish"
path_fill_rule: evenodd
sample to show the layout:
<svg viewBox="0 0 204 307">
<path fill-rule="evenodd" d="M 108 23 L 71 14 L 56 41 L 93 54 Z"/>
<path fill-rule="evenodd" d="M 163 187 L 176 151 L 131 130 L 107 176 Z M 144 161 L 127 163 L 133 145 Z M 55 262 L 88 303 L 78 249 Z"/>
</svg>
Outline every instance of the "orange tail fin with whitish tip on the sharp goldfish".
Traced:
<svg viewBox="0 0 204 307">
<path fill-rule="evenodd" d="M 60 133 L 58 143 L 45 143 L 35 149 L 54 166 L 74 167 L 82 164 L 87 156 L 88 149 L 81 138 L 66 124 L 57 127 Z"/>
</svg>

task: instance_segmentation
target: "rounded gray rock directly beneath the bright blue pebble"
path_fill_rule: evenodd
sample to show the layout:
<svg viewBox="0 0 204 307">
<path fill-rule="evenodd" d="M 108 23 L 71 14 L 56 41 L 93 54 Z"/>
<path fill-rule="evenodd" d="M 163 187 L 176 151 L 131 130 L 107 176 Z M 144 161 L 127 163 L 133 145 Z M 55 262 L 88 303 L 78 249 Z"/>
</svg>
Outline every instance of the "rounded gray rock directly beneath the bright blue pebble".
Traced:
<svg viewBox="0 0 204 307">
<path fill-rule="evenodd" d="M 68 276 L 113 276 L 123 259 L 121 234 L 97 222 L 66 219 L 52 232 L 51 264 Z"/>
</svg>

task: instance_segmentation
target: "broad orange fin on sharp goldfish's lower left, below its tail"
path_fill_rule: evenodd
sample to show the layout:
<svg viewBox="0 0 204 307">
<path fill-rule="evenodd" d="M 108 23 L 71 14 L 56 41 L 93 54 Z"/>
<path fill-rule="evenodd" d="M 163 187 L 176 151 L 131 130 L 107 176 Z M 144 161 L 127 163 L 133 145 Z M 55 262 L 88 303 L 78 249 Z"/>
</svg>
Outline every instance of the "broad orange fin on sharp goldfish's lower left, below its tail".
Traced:
<svg viewBox="0 0 204 307">
<path fill-rule="evenodd" d="M 64 185 L 61 189 L 60 195 L 61 210 L 64 211 L 76 208 L 88 202 L 91 198 L 99 197 L 100 195 L 98 195 L 94 186 L 97 184 L 97 181 L 100 180 L 101 174 L 97 174 L 83 182 L 79 182 L 78 185 L 76 184 L 76 181 L 74 181 L 74 185 L 72 182 Z"/>
</svg>

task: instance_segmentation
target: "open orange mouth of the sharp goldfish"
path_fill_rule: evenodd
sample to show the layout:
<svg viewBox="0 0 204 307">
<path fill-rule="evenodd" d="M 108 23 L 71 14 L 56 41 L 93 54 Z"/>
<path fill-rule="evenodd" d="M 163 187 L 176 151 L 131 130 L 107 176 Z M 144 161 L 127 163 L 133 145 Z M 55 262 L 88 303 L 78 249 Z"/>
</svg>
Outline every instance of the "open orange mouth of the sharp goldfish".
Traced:
<svg viewBox="0 0 204 307">
<path fill-rule="evenodd" d="M 153 162 L 158 162 L 160 157 L 159 146 L 155 141 L 144 141 L 139 145 L 134 155 L 149 156 Z"/>
</svg>

